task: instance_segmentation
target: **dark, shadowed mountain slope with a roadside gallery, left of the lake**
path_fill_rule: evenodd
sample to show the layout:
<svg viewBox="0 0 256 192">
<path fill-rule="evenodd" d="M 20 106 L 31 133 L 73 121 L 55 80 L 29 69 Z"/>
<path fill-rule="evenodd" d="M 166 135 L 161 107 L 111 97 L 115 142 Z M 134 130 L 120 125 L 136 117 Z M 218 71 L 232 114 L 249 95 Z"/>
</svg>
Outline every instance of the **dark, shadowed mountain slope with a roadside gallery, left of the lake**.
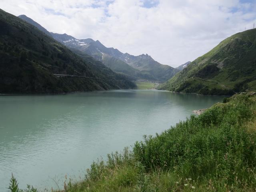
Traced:
<svg viewBox="0 0 256 192">
<path fill-rule="evenodd" d="M 135 87 L 125 76 L 116 74 L 86 54 L 78 56 L 42 30 L 0 10 L 0 93 L 60 93 Z"/>
</svg>

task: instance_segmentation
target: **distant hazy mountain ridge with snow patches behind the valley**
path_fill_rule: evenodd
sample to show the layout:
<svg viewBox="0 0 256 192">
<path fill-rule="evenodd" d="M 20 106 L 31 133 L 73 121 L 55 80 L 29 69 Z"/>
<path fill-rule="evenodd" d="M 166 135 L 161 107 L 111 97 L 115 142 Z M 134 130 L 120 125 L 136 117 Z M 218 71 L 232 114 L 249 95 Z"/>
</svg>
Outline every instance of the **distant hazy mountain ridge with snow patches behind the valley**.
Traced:
<svg viewBox="0 0 256 192">
<path fill-rule="evenodd" d="M 30 24 L 33 24 L 38 27 L 39 30 L 45 32 L 46 29 L 32 19 L 24 15 L 19 17 L 24 18 L 24 20 Z M 156 62 L 148 54 L 133 56 L 128 53 L 124 54 L 118 49 L 107 48 L 98 40 L 94 41 L 90 38 L 76 39 L 68 34 L 58 34 L 48 31 L 45 33 L 68 48 L 77 49 L 80 52 L 86 53 L 96 60 L 103 62 L 115 72 L 125 74 L 134 80 L 140 78 L 154 81 L 166 81 L 179 71 L 171 66 Z"/>
</svg>

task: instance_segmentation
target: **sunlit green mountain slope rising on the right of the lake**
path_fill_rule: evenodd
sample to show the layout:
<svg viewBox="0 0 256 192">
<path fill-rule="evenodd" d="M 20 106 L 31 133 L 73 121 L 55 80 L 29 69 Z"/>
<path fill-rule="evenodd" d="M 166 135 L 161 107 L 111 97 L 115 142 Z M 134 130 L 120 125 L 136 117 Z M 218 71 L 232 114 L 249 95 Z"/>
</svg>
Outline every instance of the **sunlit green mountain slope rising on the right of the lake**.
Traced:
<svg viewBox="0 0 256 192">
<path fill-rule="evenodd" d="M 162 89 L 214 95 L 256 90 L 256 29 L 226 38 L 168 80 Z"/>
</svg>

